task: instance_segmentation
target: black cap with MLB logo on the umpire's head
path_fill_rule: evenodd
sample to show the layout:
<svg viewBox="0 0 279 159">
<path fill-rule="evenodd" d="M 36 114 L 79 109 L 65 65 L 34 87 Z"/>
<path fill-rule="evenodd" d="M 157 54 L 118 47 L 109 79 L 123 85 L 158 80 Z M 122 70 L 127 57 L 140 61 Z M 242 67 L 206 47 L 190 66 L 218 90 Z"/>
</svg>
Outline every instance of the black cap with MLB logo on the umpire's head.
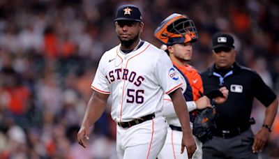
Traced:
<svg viewBox="0 0 279 159">
<path fill-rule="evenodd" d="M 212 38 L 213 49 L 218 47 L 234 48 L 234 38 L 227 33 L 216 33 Z"/>
</svg>

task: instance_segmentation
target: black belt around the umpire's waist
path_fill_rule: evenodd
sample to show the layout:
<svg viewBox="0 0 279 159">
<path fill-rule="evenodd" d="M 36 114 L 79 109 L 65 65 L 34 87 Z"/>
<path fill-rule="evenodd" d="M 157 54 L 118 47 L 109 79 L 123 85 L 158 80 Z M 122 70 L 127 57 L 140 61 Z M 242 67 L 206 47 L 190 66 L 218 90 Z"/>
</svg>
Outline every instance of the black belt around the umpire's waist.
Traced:
<svg viewBox="0 0 279 159">
<path fill-rule="evenodd" d="M 242 132 L 248 130 L 249 127 L 246 128 L 234 128 L 234 129 L 230 129 L 230 130 L 214 130 L 213 131 L 213 135 L 218 136 L 218 137 L 223 137 L 224 139 L 227 138 L 232 138 L 235 137 L 237 135 L 240 135 Z"/>
</svg>

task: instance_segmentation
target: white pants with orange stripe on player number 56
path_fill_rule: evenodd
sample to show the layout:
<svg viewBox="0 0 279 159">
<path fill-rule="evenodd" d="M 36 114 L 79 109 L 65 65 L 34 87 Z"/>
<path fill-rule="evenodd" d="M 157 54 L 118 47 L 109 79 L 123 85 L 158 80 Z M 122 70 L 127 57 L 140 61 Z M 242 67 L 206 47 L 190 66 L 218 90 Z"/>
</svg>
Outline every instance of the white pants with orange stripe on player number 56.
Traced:
<svg viewBox="0 0 279 159">
<path fill-rule="evenodd" d="M 116 150 L 119 159 L 156 159 L 165 143 L 167 123 L 162 115 L 128 129 L 117 126 Z"/>
</svg>

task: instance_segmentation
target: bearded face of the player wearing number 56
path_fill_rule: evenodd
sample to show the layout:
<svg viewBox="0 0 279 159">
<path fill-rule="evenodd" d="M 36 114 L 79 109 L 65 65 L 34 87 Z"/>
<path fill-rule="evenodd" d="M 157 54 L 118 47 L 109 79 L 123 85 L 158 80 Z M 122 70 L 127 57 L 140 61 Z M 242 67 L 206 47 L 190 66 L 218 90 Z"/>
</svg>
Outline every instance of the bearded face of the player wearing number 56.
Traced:
<svg viewBox="0 0 279 159">
<path fill-rule="evenodd" d="M 130 20 L 120 20 L 115 22 L 115 31 L 121 43 L 132 45 L 142 33 L 144 24 Z"/>
</svg>

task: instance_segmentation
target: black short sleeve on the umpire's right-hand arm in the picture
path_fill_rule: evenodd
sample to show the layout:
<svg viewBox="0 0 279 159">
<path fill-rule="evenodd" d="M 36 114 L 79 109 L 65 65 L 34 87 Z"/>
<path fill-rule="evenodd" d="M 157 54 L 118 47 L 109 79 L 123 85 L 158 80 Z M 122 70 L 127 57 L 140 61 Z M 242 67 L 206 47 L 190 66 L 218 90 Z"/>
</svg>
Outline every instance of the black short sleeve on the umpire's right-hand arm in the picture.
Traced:
<svg viewBox="0 0 279 159">
<path fill-rule="evenodd" d="M 268 107 L 276 99 L 276 94 L 264 83 L 262 78 L 256 72 L 254 72 L 252 82 L 252 92 L 255 93 L 255 98 L 257 98 L 257 100 L 259 100 L 264 106 Z"/>
</svg>

